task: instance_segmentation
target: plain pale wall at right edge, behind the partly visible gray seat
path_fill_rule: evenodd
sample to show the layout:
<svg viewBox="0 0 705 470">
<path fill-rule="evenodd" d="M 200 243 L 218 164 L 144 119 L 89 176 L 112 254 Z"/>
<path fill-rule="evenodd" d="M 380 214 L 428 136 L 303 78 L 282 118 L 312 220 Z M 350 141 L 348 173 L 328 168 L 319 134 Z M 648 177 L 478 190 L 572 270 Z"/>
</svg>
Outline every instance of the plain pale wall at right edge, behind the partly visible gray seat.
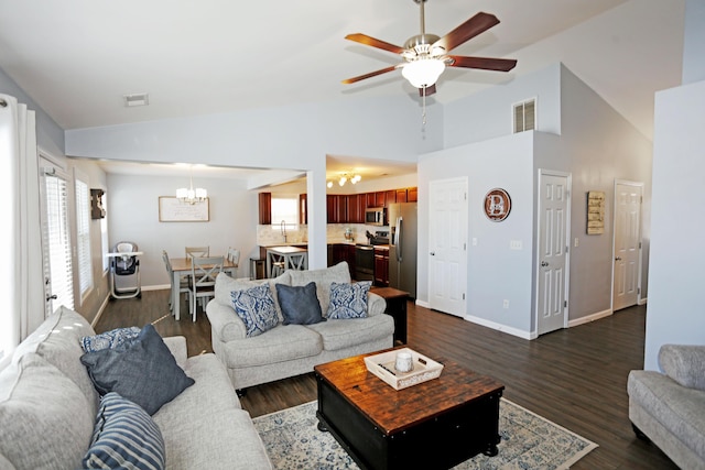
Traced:
<svg viewBox="0 0 705 470">
<path fill-rule="evenodd" d="M 651 293 L 644 368 L 661 345 L 705 345 L 701 288 L 705 250 L 705 81 L 657 94 L 653 144 Z"/>
</svg>

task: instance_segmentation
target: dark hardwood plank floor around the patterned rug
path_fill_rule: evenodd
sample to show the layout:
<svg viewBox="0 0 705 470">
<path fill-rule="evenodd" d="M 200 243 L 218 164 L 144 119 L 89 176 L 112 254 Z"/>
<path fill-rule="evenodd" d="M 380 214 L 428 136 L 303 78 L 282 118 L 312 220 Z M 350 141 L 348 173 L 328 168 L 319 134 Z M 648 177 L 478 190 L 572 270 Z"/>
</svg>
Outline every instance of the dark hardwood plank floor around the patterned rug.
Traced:
<svg viewBox="0 0 705 470">
<path fill-rule="evenodd" d="M 188 354 L 212 352 L 210 325 L 198 313 L 175 321 L 169 291 L 111 300 L 98 332 L 154 323 L 162 336 L 183 335 Z M 182 313 L 187 311 L 182 303 Z M 643 365 L 646 307 L 637 306 L 528 341 L 452 315 L 409 304 L 409 346 L 491 375 L 505 397 L 593 440 L 599 447 L 574 469 L 676 469 L 655 446 L 636 438 L 628 417 L 627 375 Z M 242 406 L 254 416 L 316 400 L 313 374 L 248 389 Z"/>
</svg>

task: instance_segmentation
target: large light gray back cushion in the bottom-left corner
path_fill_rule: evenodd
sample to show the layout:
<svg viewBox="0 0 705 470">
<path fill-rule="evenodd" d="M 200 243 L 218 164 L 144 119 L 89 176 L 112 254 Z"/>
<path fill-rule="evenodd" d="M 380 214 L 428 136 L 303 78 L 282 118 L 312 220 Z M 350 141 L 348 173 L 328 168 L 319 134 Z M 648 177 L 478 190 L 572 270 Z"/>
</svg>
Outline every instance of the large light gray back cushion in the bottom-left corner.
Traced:
<svg viewBox="0 0 705 470">
<path fill-rule="evenodd" d="M 0 373 L 0 455 L 17 469 L 79 468 L 94 419 L 76 383 L 34 352 Z"/>
</svg>

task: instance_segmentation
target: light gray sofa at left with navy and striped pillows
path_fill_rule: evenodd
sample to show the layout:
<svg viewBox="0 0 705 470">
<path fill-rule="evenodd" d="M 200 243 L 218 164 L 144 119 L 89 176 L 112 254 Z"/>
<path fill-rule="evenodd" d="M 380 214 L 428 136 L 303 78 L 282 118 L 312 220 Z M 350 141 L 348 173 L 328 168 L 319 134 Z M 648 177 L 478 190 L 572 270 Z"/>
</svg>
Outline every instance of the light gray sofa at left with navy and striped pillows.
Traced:
<svg viewBox="0 0 705 470">
<path fill-rule="evenodd" d="M 94 431 L 99 397 L 79 358 L 93 336 L 77 313 L 59 308 L 15 350 L 0 373 L 0 469 L 78 469 Z M 165 338 L 195 380 L 153 416 L 166 469 L 271 469 L 262 441 L 220 361 L 186 357 L 184 337 Z"/>
</svg>

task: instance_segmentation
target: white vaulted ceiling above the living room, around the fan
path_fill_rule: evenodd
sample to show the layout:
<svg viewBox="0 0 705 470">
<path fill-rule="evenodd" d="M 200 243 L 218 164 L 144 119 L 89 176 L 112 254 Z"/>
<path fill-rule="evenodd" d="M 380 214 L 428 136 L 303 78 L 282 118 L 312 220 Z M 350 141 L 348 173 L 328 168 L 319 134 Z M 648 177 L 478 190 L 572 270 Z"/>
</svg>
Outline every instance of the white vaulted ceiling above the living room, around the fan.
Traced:
<svg viewBox="0 0 705 470">
<path fill-rule="evenodd" d="M 429 33 L 478 11 L 501 21 L 454 54 L 519 61 L 509 74 L 447 69 L 435 99 L 560 61 L 651 138 L 653 94 L 680 83 L 683 9 L 683 0 L 429 0 Z M 346 34 L 403 45 L 419 23 L 413 0 L 0 0 L 0 68 L 64 129 L 415 95 L 399 70 L 340 80 L 399 63 Z M 122 96 L 139 92 L 149 106 L 126 108 Z"/>
</svg>

